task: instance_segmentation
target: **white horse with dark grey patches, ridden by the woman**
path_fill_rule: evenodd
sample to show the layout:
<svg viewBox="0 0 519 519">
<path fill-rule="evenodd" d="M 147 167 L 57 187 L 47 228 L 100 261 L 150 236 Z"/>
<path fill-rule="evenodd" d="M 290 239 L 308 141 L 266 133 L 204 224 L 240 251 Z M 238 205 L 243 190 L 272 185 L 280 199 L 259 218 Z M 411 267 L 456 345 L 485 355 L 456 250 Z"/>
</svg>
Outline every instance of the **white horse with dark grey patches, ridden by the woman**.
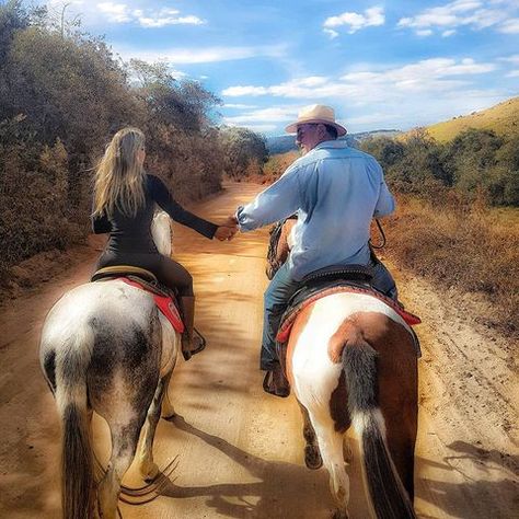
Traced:
<svg viewBox="0 0 519 519">
<path fill-rule="evenodd" d="M 159 251 L 169 255 L 165 212 L 153 219 L 152 235 Z M 39 357 L 61 417 L 65 519 L 90 519 L 97 512 L 104 519 L 117 516 L 122 480 L 145 423 L 139 469 L 145 480 L 157 478 L 153 436 L 162 404 L 164 415 L 174 414 L 166 393 L 180 341 L 152 296 L 120 280 L 81 285 L 51 308 L 42 331 Z M 97 486 L 97 499 L 93 411 L 106 420 L 112 438 L 112 455 Z"/>
</svg>

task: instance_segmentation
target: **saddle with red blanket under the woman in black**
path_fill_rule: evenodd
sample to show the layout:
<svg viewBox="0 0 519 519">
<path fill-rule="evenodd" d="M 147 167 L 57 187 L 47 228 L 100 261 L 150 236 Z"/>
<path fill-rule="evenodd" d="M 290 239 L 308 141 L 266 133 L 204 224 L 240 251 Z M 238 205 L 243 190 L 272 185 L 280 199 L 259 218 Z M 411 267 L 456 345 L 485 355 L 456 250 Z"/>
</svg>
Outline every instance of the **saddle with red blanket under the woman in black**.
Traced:
<svg viewBox="0 0 519 519">
<path fill-rule="evenodd" d="M 118 279 L 131 287 L 150 292 L 157 308 L 170 321 L 173 328 L 178 333 L 184 332 L 185 326 L 182 321 L 176 292 L 160 285 L 154 274 L 146 268 L 131 265 L 116 265 L 100 268 L 94 273 L 91 281 L 106 281 L 108 279 Z"/>
</svg>

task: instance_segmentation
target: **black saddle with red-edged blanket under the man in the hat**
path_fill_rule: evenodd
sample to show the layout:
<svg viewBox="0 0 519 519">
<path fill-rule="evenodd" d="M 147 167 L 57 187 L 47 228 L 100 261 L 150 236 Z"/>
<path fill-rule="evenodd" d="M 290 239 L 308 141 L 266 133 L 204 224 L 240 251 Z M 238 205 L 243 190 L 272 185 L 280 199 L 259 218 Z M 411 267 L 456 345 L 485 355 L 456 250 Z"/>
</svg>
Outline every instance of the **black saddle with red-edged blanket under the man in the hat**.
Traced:
<svg viewBox="0 0 519 519">
<path fill-rule="evenodd" d="M 410 328 L 422 322 L 417 315 L 404 310 L 397 301 L 374 289 L 370 284 L 372 277 L 372 270 L 369 266 L 348 265 L 346 267 L 331 266 L 322 268 L 309 274 L 301 280 L 301 288 L 290 298 L 276 335 L 276 354 L 285 378 L 287 374 L 287 345 L 292 325 L 299 313 L 318 299 L 341 292 L 365 293 L 376 297 L 392 308 L 405 323 L 410 325 Z M 418 338 L 413 328 L 411 328 L 411 332 L 415 342 L 417 356 L 420 357 L 422 353 L 419 350 Z M 288 380 L 285 380 L 285 382 L 288 384 Z"/>
</svg>

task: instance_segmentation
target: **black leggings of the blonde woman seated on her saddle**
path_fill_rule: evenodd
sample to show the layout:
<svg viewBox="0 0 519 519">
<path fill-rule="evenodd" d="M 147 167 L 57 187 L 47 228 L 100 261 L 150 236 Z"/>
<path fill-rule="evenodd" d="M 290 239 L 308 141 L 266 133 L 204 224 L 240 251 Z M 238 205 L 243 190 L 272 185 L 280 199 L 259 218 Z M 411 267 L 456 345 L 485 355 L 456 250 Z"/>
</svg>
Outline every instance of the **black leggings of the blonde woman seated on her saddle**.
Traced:
<svg viewBox="0 0 519 519">
<path fill-rule="evenodd" d="M 105 251 L 97 261 L 97 269 L 116 265 L 131 265 L 146 268 L 157 276 L 157 279 L 169 288 L 176 288 L 178 296 L 192 297 L 193 277 L 180 264 L 161 254 L 132 254 Z"/>
</svg>

